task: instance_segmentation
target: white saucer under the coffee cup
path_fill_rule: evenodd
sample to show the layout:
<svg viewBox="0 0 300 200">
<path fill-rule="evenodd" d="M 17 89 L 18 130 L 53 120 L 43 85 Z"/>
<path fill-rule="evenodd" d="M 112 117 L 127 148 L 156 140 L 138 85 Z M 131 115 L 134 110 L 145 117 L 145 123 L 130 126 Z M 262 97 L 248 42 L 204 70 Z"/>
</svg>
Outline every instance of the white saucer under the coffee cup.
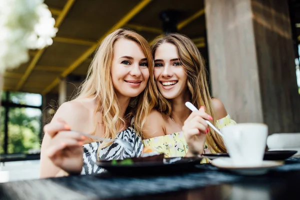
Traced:
<svg viewBox="0 0 300 200">
<path fill-rule="evenodd" d="M 271 168 L 280 166 L 283 161 L 263 160 L 258 166 L 235 166 L 230 157 L 219 157 L 213 159 L 211 164 L 222 169 L 226 169 L 243 175 L 261 175 L 267 173 Z"/>
</svg>

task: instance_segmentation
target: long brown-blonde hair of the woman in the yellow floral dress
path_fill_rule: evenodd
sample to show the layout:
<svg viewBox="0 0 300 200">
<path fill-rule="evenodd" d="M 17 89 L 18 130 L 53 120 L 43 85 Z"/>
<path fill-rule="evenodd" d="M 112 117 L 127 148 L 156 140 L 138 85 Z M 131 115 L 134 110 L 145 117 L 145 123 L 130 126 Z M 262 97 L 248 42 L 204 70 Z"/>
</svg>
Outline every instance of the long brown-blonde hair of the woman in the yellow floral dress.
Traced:
<svg viewBox="0 0 300 200">
<path fill-rule="evenodd" d="M 205 111 L 213 118 L 215 124 L 213 109 L 211 107 L 211 97 L 209 94 L 205 62 L 195 44 L 185 35 L 179 33 L 169 33 L 156 37 L 151 43 L 152 55 L 159 45 L 170 43 L 176 46 L 179 60 L 187 74 L 187 87 L 190 94 L 190 102 L 196 107 L 205 106 Z M 158 101 L 155 108 L 164 116 L 169 117 L 172 108 L 171 103 L 163 95 L 158 93 Z M 209 133 L 206 137 L 207 144 L 216 152 L 226 152 L 222 138 L 209 127 Z"/>
</svg>

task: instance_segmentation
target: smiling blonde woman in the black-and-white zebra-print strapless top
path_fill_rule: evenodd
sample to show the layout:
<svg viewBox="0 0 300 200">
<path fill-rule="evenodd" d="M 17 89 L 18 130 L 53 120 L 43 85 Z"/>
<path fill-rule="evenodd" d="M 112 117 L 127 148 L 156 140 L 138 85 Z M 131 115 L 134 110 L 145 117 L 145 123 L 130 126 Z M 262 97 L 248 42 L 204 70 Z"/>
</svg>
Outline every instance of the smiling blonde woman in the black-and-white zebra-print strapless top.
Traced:
<svg viewBox="0 0 300 200">
<path fill-rule="evenodd" d="M 139 156 L 143 148 L 140 127 L 148 114 L 146 108 L 155 103 L 155 91 L 147 41 L 128 29 L 107 35 L 96 50 L 78 95 L 63 103 L 44 127 L 40 177 L 100 173 L 103 169 L 95 164 L 97 159 Z M 130 126 L 133 115 L 134 130 Z M 78 132 L 118 137 L 134 150 L 118 143 L 102 145 Z"/>
</svg>

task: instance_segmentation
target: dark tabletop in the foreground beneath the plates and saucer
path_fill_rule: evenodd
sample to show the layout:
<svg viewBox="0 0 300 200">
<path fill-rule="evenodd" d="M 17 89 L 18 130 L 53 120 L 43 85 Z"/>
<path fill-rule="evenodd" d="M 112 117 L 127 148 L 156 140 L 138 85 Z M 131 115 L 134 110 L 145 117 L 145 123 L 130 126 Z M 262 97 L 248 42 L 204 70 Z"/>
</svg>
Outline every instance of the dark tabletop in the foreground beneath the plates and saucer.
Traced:
<svg viewBox="0 0 300 200">
<path fill-rule="evenodd" d="M 200 164 L 191 171 L 125 177 L 109 173 L 0 184 L 0 199 L 300 199 L 300 158 L 243 176 Z"/>
</svg>

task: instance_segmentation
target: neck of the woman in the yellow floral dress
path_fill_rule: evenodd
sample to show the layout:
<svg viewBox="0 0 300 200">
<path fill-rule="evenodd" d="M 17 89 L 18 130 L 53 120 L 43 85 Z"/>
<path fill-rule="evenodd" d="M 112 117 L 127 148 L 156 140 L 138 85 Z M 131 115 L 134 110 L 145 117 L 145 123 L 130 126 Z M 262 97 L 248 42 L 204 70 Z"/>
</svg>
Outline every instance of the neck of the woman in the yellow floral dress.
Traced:
<svg viewBox="0 0 300 200">
<path fill-rule="evenodd" d="M 179 126 L 183 126 L 184 121 L 191 113 L 191 111 L 185 106 L 185 102 L 189 100 L 189 95 L 181 95 L 171 99 L 171 117 Z"/>
</svg>

